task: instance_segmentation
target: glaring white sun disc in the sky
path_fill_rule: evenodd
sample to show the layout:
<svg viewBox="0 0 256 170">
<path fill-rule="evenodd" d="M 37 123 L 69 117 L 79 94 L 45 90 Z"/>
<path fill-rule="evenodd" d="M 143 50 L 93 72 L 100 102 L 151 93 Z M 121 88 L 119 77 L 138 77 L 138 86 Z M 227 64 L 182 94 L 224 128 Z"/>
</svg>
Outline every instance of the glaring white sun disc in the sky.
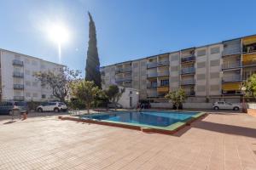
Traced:
<svg viewBox="0 0 256 170">
<path fill-rule="evenodd" d="M 62 24 L 54 24 L 49 26 L 48 33 L 49 38 L 58 44 L 67 42 L 69 39 L 69 32 L 67 27 Z"/>
</svg>

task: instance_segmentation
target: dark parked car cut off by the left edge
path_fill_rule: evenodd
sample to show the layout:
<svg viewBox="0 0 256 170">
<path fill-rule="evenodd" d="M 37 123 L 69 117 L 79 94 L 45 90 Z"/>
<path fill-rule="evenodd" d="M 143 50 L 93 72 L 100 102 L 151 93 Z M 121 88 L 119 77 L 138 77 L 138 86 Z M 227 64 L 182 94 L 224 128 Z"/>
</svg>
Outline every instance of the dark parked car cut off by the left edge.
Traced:
<svg viewBox="0 0 256 170">
<path fill-rule="evenodd" d="M 3 101 L 0 102 L 0 115 L 12 115 L 12 110 L 18 108 L 20 112 L 28 114 L 28 105 L 25 101 Z"/>
</svg>

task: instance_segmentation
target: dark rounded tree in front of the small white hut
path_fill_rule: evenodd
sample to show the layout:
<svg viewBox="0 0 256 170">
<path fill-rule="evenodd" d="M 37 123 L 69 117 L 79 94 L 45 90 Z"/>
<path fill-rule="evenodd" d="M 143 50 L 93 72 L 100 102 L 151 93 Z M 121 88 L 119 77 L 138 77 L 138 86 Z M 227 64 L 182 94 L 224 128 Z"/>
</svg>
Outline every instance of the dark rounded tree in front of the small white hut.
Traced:
<svg viewBox="0 0 256 170">
<path fill-rule="evenodd" d="M 106 90 L 108 99 L 114 104 L 117 104 L 119 102 L 119 99 L 124 93 L 125 93 L 125 88 L 119 88 L 119 86 L 117 85 L 110 85 Z M 115 106 L 115 110 L 116 110 L 116 106 Z"/>
</svg>

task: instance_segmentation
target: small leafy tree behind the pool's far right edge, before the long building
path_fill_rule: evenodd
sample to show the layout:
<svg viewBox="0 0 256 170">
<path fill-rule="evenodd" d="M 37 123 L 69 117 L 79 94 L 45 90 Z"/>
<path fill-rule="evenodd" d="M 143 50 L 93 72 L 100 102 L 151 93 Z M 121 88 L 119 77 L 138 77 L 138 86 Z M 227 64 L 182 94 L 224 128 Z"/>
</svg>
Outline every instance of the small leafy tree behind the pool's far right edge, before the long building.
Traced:
<svg viewBox="0 0 256 170">
<path fill-rule="evenodd" d="M 179 88 L 177 91 L 169 92 L 166 94 L 166 99 L 172 100 L 173 109 L 182 109 L 183 102 L 187 99 L 187 96 L 182 88 Z"/>
</svg>

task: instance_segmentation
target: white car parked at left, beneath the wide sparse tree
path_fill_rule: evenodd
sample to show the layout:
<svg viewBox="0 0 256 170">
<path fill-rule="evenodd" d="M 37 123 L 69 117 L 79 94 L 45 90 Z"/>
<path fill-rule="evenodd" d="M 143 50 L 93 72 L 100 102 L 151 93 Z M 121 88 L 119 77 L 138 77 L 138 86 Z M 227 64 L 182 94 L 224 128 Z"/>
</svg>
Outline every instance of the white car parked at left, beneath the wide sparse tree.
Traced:
<svg viewBox="0 0 256 170">
<path fill-rule="evenodd" d="M 63 102 L 46 102 L 42 105 L 38 105 L 37 107 L 38 112 L 43 111 L 67 111 L 67 105 L 65 105 Z"/>
</svg>

